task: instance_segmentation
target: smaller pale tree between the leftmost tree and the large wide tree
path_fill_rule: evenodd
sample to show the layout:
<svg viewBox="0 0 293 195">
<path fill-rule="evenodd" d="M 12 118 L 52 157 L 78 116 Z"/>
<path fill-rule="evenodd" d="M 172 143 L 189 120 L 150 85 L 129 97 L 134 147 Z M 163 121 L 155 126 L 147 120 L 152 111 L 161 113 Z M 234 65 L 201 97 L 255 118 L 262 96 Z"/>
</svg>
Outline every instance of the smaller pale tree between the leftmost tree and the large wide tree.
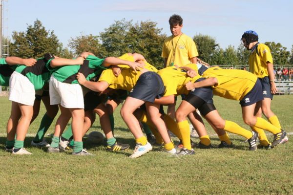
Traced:
<svg viewBox="0 0 293 195">
<path fill-rule="evenodd" d="M 68 46 L 74 51 L 75 55 L 79 55 L 84 51 L 89 51 L 99 56 L 101 51 L 99 36 L 90 35 L 81 35 L 76 38 L 71 38 L 68 43 Z"/>
</svg>

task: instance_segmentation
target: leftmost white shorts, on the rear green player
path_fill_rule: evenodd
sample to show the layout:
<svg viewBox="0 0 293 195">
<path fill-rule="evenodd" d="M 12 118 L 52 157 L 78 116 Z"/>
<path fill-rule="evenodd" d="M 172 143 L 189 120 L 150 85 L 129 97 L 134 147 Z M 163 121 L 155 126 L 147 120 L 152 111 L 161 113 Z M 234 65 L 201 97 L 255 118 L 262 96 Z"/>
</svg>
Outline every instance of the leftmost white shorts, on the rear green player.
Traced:
<svg viewBox="0 0 293 195">
<path fill-rule="evenodd" d="M 26 76 L 14 71 L 9 79 L 8 99 L 20 104 L 34 106 L 35 87 Z"/>
</svg>

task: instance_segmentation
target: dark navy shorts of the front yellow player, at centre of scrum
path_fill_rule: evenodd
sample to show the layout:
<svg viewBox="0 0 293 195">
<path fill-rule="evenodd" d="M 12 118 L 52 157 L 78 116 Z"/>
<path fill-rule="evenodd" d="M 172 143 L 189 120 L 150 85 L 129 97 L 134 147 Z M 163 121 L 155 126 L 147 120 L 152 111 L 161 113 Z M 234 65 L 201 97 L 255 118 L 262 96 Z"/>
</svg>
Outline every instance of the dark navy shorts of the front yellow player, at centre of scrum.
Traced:
<svg viewBox="0 0 293 195">
<path fill-rule="evenodd" d="M 157 73 L 148 71 L 139 77 L 136 85 L 129 93 L 129 97 L 154 103 L 156 98 L 163 96 L 164 91 L 162 78 Z"/>
</svg>

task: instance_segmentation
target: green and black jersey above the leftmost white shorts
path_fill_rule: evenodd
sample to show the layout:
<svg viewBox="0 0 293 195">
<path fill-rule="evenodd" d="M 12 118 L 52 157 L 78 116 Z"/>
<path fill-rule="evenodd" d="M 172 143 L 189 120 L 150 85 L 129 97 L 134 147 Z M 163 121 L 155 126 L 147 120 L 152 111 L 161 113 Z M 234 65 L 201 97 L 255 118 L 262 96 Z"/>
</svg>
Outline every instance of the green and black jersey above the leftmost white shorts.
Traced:
<svg viewBox="0 0 293 195">
<path fill-rule="evenodd" d="M 26 76 L 28 80 L 34 85 L 35 90 L 42 89 L 42 87 L 49 81 L 52 71 L 50 71 L 50 62 L 53 59 L 46 61 L 44 58 L 37 59 L 33 66 L 19 65 L 15 71 Z"/>
</svg>

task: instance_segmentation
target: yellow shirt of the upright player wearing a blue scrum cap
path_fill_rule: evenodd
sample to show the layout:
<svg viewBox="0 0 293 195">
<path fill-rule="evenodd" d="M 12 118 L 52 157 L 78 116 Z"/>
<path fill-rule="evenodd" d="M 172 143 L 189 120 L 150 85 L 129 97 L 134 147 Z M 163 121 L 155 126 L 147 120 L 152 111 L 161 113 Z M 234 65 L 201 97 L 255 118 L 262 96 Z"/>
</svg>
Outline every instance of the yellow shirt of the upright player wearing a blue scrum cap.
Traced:
<svg viewBox="0 0 293 195">
<path fill-rule="evenodd" d="M 267 62 L 272 63 L 272 54 L 270 48 L 263 43 L 257 45 L 257 50 L 259 55 L 257 55 L 256 49 L 251 51 L 248 61 L 249 69 L 258 78 L 264 78 L 269 76 Z"/>
</svg>

